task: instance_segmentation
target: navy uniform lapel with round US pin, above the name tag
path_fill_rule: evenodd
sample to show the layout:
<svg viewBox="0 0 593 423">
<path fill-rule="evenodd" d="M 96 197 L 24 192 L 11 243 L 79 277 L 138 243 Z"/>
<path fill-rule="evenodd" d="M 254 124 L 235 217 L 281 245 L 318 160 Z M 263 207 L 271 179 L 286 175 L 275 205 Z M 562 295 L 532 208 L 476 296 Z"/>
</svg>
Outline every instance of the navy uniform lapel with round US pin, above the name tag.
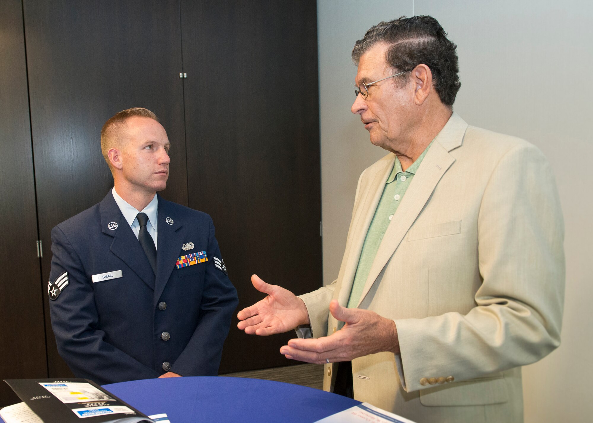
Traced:
<svg viewBox="0 0 593 423">
<path fill-rule="evenodd" d="M 110 250 L 117 257 L 122 259 L 132 271 L 141 278 L 146 285 L 154 289 L 155 275 L 146 258 L 138 238 L 134 235 L 132 228 L 127 224 L 122 212 L 113 198 L 111 191 L 99 204 L 101 213 L 101 230 L 106 235 L 113 237 Z M 117 223 L 117 228 L 109 229 L 109 223 Z"/>
</svg>

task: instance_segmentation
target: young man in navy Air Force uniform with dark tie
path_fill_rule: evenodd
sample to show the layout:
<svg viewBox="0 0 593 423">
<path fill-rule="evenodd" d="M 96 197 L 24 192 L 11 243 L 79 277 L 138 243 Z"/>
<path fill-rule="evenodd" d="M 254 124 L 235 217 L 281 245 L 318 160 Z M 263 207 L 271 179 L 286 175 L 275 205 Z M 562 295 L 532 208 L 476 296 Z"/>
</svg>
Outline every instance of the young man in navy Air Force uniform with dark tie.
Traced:
<svg viewBox="0 0 593 423">
<path fill-rule="evenodd" d="M 58 350 L 97 383 L 216 376 L 237 291 L 208 214 L 163 200 L 170 142 L 145 108 L 101 130 L 114 188 L 52 230 Z"/>
</svg>

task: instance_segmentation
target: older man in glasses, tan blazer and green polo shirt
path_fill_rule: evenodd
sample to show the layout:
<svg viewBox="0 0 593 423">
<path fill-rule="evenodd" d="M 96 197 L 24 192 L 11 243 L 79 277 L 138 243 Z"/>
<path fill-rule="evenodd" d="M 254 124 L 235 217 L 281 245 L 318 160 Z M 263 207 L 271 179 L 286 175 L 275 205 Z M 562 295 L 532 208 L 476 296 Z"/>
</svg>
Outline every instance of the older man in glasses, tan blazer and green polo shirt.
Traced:
<svg viewBox="0 0 593 423">
<path fill-rule="evenodd" d="M 540 150 L 452 112 L 455 47 L 431 17 L 356 43 L 352 112 L 390 153 L 360 177 L 337 280 L 296 297 L 254 275 L 268 296 L 238 327 L 310 325 L 280 353 L 415 421 L 521 422 L 520 366 L 560 343 L 562 213 Z"/>
</svg>

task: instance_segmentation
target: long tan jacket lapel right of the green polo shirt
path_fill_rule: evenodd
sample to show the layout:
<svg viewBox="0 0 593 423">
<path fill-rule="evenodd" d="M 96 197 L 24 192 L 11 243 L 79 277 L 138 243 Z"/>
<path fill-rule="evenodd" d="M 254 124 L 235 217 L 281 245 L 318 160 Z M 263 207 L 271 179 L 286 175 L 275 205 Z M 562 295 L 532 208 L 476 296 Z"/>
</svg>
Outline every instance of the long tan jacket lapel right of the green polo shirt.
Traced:
<svg viewBox="0 0 593 423">
<path fill-rule="evenodd" d="M 449 151 L 461 146 L 466 129 L 467 123 L 456 113 L 453 113 L 447 124 L 445 124 L 441 132 L 436 136 L 435 142 L 422 160 L 422 164 L 420 164 L 417 174 L 407 188 L 406 195 L 401 200 L 401 204 L 397 208 L 393 220 L 387 227 L 387 231 L 383 236 L 377 255 L 375 255 L 371 271 L 366 279 L 365 287 L 362 291 L 358 305 L 364 300 L 366 294 L 381 273 L 381 270 L 394 254 L 398 245 L 400 245 L 401 240 L 410 229 L 410 226 L 415 222 L 416 217 L 418 217 L 420 211 L 422 211 L 431 196 L 432 191 L 434 191 L 436 184 L 441 180 L 442 175 L 447 172 L 449 167 L 455 161 L 455 158 L 449 154 Z M 383 184 L 380 186 L 381 192 L 384 188 L 384 184 L 385 181 L 383 181 Z M 370 217 L 370 219 L 372 219 L 376 209 L 377 204 L 375 204 L 374 208 L 369 211 L 368 217 Z"/>
</svg>

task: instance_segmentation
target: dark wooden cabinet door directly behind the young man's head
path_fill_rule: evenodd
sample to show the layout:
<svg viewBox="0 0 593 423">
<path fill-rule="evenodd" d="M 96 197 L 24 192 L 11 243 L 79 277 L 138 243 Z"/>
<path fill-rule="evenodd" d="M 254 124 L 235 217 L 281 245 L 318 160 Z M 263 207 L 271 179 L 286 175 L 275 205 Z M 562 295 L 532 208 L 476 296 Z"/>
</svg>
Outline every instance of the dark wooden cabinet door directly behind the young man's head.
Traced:
<svg viewBox="0 0 593 423">
<path fill-rule="evenodd" d="M 179 4 L 24 0 L 24 24 L 47 280 L 52 227 L 98 203 L 113 186 L 100 130 L 116 112 L 146 107 L 160 117 L 172 144 L 163 194 L 187 205 Z M 46 323 L 49 376 L 67 376 L 49 315 Z"/>
</svg>

